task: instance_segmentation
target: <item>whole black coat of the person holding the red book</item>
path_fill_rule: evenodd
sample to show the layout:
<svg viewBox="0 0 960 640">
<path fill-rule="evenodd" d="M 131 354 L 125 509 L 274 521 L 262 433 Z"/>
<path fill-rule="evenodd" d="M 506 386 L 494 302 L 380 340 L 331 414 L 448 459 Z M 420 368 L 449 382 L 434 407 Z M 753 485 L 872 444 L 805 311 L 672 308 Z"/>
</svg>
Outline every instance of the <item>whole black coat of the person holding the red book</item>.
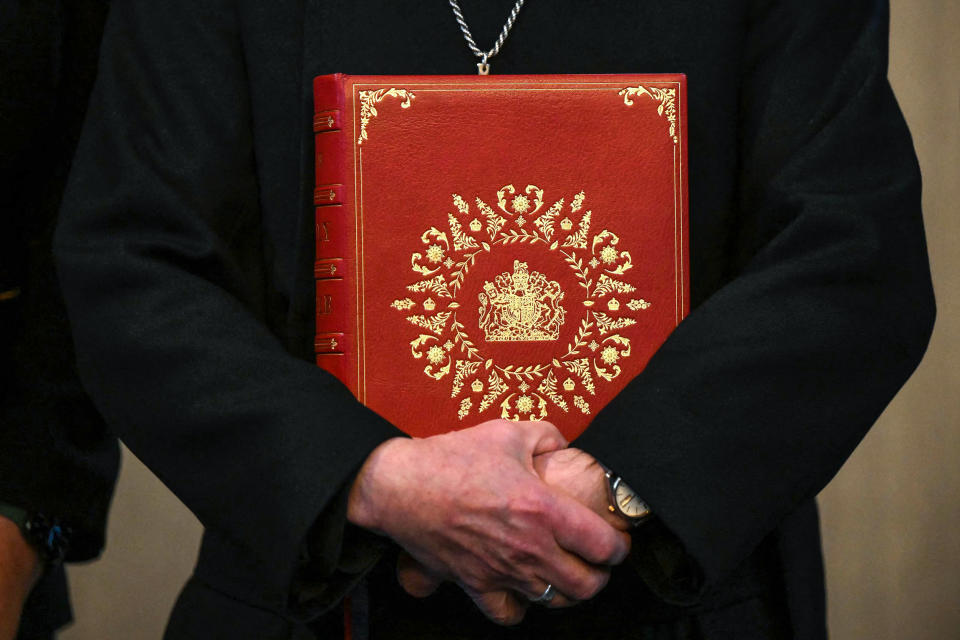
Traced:
<svg viewBox="0 0 960 640">
<path fill-rule="evenodd" d="M 464 10 L 493 34 L 511 5 Z M 371 637 L 825 636 L 813 498 L 934 315 L 887 22 L 875 0 L 524 7 L 496 73 L 688 76 L 694 310 L 575 443 L 659 520 L 595 601 L 517 630 L 404 600 L 381 565 Z M 57 251 L 90 392 L 207 529 L 169 638 L 310 637 L 289 621 L 384 546 L 345 490 L 399 432 L 310 363 L 310 80 L 473 68 L 442 3 L 113 11 Z"/>
</svg>

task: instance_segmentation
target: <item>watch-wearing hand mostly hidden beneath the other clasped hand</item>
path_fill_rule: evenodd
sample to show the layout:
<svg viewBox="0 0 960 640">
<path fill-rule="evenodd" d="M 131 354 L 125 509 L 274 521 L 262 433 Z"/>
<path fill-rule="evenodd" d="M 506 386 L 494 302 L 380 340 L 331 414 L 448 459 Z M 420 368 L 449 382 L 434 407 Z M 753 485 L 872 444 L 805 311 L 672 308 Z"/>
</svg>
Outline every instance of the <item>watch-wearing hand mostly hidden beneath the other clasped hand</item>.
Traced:
<svg viewBox="0 0 960 640">
<path fill-rule="evenodd" d="M 548 485 L 576 498 L 617 529 L 629 530 L 627 522 L 610 511 L 605 473 L 589 453 L 574 448 L 559 449 L 534 457 L 533 466 Z M 429 596 L 441 583 L 440 578 L 430 574 L 423 565 L 403 551 L 397 560 L 397 580 L 407 593 L 416 598 Z M 506 591 L 477 593 L 466 588 L 464 591 L 481 609 L 493 607 L 498 601 L 511 596 Z M 558 593 L 550 606 L 566 607 L 576 603 L 576 600 Z"/>
</svg>

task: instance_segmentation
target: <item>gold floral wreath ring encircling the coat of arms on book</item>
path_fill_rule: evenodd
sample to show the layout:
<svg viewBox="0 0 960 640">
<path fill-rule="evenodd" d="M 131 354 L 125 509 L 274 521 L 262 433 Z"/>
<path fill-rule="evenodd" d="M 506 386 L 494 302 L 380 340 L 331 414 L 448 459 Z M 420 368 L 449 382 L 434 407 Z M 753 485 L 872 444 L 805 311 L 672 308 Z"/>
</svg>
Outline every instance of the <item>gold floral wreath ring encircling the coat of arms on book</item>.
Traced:
<svg viewBox="0 0 960 640">
<path fill-rule="evenodd" d="M 637 314 L 651 304 L 642 298 L 621 304 L 615 297 L 637 290 L 623 278 L 633 261 L 629 251 L 619 248 L 620 238 L 612 231 L 603 229 L 591 236 L 592 212 L 580 213 L 584 192 L 573 197 L 569 213 L 559 221 L 564 198 L 543 210 L 543 195 L 536 185 L 517 192 L 508 184 L 497 192 L 496 208 L 479 197 L 471 208 L 463 197 L 452 194 L 456 213 L 447 213 L 448 230 L 430 227 L 421 234 L 424 249 L 410 257 L 411 269 L 420 279 L 407 285 L 407 297 L 390 304 L 404 313 L 423 310 L 406 316 L 425 331 L 410 342 L 413 357 L 426 359 L 423 373 L 434 380 L 452 374 L 451 398 L 465 388 L 478 396 L 478 415 L 499 401 L 502 418 L 543 420 L 550 404 L 569 412 L 571 396 L 574 407 L 589 414 L 587 397 L 596 395 L 596 379 L 612 381 L 621 373 L 619 361 L 630 357 L 630 338 L 620 330 L 635 325 Z M 584 289 L 576 335 L 563 355 L 550 362 L 525 366 L 494 362 L 457 318 L 461 308 L 457 298 L 470 269 L 485 253 L 516 243 L 542 245 L 562 257 Z M 606 311 L 596 310 L 604 299 Z M 470 395 L 462 398 L 457 417 L 466 418 L 473 405 Z"/>
</svg>

